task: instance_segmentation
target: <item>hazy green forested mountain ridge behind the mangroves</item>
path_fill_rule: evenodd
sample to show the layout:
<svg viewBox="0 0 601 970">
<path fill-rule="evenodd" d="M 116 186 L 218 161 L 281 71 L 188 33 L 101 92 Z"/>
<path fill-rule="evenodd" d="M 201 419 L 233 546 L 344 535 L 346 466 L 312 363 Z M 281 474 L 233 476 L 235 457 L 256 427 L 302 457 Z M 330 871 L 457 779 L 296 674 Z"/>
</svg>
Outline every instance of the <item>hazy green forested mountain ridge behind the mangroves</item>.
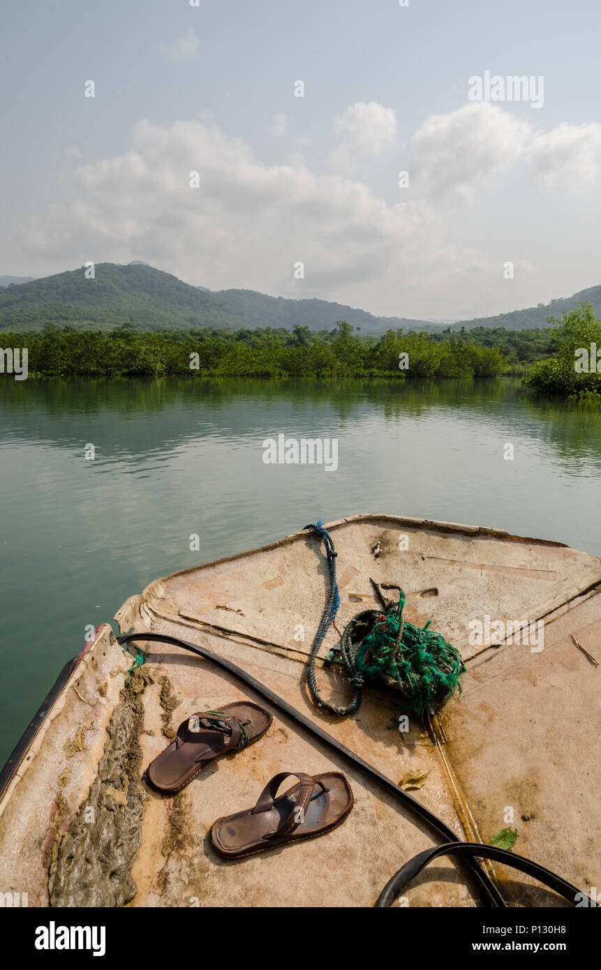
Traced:
<svg viewBox="0 0 601 970">
<path fill-rule="evenodd" d="M 82 267 L 41 279 L 0 276 L 0 283 L 2 280 L 17 285 L 2 284 L 0 288 L 0 331 L 39 331 L 47 323 L 89 330 L 113 330 L 132 324 L 143 330 L 291 330 L 300 326 L 315 331 L 332 330 L 337 320 L 346 320 L 362 334 L 383 334 L 399 328 L 440 331 L 446 326 L 430 320 L 375 316 L 326 300 L 270 297 L 254 290 L 212 291 L 204 286 L 190 286 L 177 276 L 138 260 L 127 266 L 98 263 L 93 279 L 85 278 Z M 559 316 L 562 310 L 583 302 L 591 303 L 601 313 L 601 286 L 582 290 L 565 300 L 551 300 L 545 306 L 457 321 L 451 329 L 545 327 L 549 315 Z"/>
</svg>

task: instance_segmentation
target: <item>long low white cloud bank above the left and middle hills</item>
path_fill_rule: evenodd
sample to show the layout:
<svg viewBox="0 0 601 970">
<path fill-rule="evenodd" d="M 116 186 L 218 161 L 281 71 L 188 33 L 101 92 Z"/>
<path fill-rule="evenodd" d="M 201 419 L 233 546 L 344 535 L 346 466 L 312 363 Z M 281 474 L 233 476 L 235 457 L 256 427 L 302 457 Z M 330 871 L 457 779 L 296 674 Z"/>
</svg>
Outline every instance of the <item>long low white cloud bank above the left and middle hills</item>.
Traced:
<svg viewBox="0 0 601 970">
<path fill-rule="evenodd" d="M 193 171 L 198 189 L 189 187 Z M 265 165 L 247 143 L 200 121 L 142 121 L 130 150 L 79 167 L 75 179 L 77 201 L 26 225 L 30 251 L 75 265 L 140 258 L 212 289 L 370 307 L 377 280 L 410 285 L 420 254 L 428 263 L 436 255 L 429 214 L 388 207 L 360 182 L 319 176 L 300 160 Z M 293 278 L 298 260 L 302 281 Z"/>
</svg>

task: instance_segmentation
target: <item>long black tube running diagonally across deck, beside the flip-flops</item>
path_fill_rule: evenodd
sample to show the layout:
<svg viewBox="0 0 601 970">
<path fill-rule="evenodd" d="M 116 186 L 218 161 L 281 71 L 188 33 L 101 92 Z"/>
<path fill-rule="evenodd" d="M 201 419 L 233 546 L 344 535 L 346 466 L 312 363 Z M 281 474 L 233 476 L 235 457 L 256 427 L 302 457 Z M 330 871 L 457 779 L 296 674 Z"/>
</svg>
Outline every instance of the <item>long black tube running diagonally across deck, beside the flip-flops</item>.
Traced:
<svg viewBox="0 0 601 970">
<path fill-rule="evenodd" d="M 415 798 L 412 798 L 410 794 L 403 792 L 398 785 L 395 785 L 390 778 L 386 778 L 382 772 L 378 771 L 377 768 L 374 768 L 371 764 L 369 764 L 368 761 L 364 761 L 362 758 L 359 758 L 349 748 L 346 748 L 344 744 L 341 744 L 340 741 L 337 741 L 336 738 L 331 736 L 331 734 L 324 731 L 322 727 L 318 727 L 313 723 L 313 721 L 310 721 L 309 718 L 305 717 L 304 714 L 297 711 L 295 707 L 288 704 L 283 697 L 275 694 L 268 687 L 265 687 L 264 684 L 261 684 L 260 681 L 255 680 L 254 677 L 251 677 L 246 670 L 242 669 L 242 667 L 237 666 L 235 663 L 231 663 L 231 661 L 225 660 L 224 657 L 219 657 L 218 654 L 213 653 L 213 651 L 209 650 L 207 647 L 197 646 L 195 643 L 190 643 L 188 640 L 180 639 L 179 636 L 169 636 L 166 633 L 123 633 L 121 636 L 117 636 L 117 643 L 120 643 L 121 646 L 124 646 L 126 643 L 131 643 L 133 640 L 149 640 L 152 643 L 171 643 L 173 646 L 181 647 L 183 650 L 189 650 L 190 653 L 196 654 L 198 657 L 202 657 L 206 661 L 217 663 L 217 666 L 220 666 L 224 670 L 227 670 L 228 673 L 233 674 L 234 677 L 237 677 L 238 680 L 241 680 L 244 684 L 247 684 L 253 691 L 256 691 L 257 694 L 261 695 L 266 700 L 269 700 L 274 707 L 277 707 L 289 718 L 292 718 L 293 721 L 296 721 L 297 724 L 302 725 L 302 727 L 305 727 L 308 731 L 314 734 L 317 738 L 319 738 L 320 741 L 323 741 L 325 744 L 329 745 L 330 748 L 337 751 L 338 754 L 348 760 L 353 767 L 369 775 L 372 779 L 374 779 L 374 781 L 378 782 L 379 785 L 382 785 L 386 792 L 393 794 L 398 801 L 400 801 L 406 808 L 409 808 L 415 815 L 417 815 L 419 819 L 421 819 L 422 822 L 425 822 L 432 829 L 434 829 L 437 835 L 442 836 L 446 842 L 456 842 L 458 845 L 464 844 L 459 841 L 452 828 L 445 824 L 442 819 L 439 819 L 438 816 L 434 815 L 433 812 L 429 812 L 427 808 L 424 808 L 424 806 L 421 805 Z M 445 849 L 447 846 L 443 846 L 442 848 Z M 477 848 L 482 848 L 482 846 L 478 846 Z M 478 855 L 478 853 L 475 853 L 474 855 Z M 482 856 L 483 854 L 480 853 L 480 855 Z M 472 858 L 468 858 L 466 859 L 466 864 L 470 867 L 472 875 L 479 883 L 484 904 L 486 906 L 494 906 L 499 908 L 507 906 L 503 896 L 484 872 L 484 869 L 480 867 L 478 862 Z"/>
</svg>

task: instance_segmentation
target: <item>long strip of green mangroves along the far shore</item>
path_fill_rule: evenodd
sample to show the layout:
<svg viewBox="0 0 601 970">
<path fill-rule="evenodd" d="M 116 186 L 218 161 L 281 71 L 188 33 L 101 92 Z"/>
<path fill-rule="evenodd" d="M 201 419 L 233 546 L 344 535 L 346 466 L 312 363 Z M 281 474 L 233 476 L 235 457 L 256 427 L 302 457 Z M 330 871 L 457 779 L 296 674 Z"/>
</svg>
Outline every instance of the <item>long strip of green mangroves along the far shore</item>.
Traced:
<svg viewBox="0 0 601 970">
<path fill-rule="evenodd" d="M 540 352 L 551 349 L 544 331 L 528 342 L 509 332 L 389 330 L 374 337 L 352 330 L 344 320 L 319 333 L 309 327 L 145 333 L 125 324 L 107 334 L 48 325 L 43 333 L 3 332 L 0 342 L 27 347 L 31 376 L 496 377 L 523 372 L 533 341 Z"/>
</svg>

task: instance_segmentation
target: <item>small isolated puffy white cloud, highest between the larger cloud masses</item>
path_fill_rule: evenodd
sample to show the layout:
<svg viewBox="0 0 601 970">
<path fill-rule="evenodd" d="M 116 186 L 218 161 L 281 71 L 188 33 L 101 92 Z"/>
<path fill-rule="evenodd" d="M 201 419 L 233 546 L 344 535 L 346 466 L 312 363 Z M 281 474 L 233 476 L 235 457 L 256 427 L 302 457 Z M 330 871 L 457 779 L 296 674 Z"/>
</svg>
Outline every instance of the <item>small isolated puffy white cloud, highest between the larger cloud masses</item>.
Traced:
<svg viewBox="0 0 601 970">
<path fill-rule="evenodd" d="M 333 129 L 338 145 L 330 154 L 330 164 L 336 171 L 352 172 L 394 145 L 396 115 L 377 101 L 358 101 L 335 116 Z"/>
</svg>

